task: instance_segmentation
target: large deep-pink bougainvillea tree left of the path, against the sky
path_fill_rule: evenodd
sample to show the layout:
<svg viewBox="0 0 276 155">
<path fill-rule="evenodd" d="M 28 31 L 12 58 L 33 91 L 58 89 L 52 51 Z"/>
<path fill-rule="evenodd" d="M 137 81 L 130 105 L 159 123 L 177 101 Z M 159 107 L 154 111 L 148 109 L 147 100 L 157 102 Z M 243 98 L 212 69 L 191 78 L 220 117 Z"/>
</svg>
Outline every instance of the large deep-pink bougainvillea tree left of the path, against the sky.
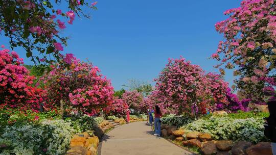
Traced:
<svg viewBox="0 0 276 155">
<path fill-rule="evenodd" d="M 113 102 L 113 87 L 98 67 L 67 54 L 63 61 L 51 66 L 53 70 L 41 78 L 48 96 L 59 105 L 73 107 L 94 115 Z"/>
</svg>

